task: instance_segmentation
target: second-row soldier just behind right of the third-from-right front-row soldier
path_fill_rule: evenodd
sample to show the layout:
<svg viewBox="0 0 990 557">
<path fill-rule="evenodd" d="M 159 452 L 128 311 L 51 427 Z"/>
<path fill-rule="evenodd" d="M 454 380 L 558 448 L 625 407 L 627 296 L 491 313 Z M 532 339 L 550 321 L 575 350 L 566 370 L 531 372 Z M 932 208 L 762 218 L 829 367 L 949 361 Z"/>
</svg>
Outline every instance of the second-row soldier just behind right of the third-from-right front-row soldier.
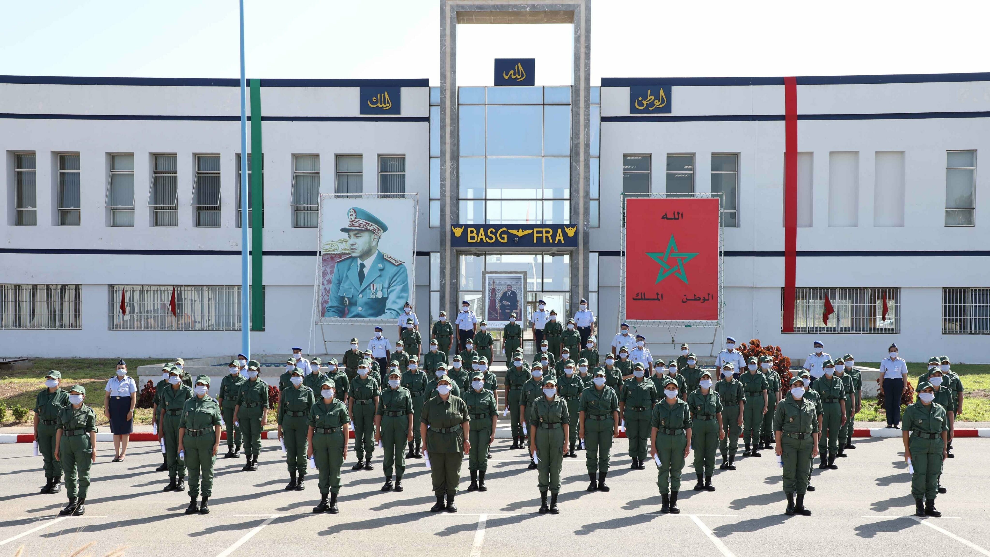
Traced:
<svg viewBox="0 0 990 557">
<path fill-rule="evenodd" d="M 698 389 L 687 395 L 687 405 L 691 410 L 691 440 L 694 443 L 694 471 L 698 482 L 694 491 L 714 492 L 712 474 L 715 471 L 715 451 L 719 441 L 726 436 L 722 426 L 722 399 L 712 390 L 712 372 L 702 371 Z M 702 483 L 704 478 L 704 483 Z"/>
</svg>

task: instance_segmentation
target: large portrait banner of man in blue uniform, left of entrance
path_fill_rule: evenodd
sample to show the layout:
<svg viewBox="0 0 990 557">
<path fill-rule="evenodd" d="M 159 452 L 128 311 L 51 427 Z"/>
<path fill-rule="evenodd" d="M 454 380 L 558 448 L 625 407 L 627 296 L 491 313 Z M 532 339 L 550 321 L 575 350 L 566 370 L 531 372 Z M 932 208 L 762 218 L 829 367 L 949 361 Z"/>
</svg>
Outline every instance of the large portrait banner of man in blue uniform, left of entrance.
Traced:
<svg viewBox="0 0 990 557">
<path fill-rule="evenodd" d="M 413 291 L 415 196 L 320 196 L 321 323 L 395 321 Z"/>
</svg>

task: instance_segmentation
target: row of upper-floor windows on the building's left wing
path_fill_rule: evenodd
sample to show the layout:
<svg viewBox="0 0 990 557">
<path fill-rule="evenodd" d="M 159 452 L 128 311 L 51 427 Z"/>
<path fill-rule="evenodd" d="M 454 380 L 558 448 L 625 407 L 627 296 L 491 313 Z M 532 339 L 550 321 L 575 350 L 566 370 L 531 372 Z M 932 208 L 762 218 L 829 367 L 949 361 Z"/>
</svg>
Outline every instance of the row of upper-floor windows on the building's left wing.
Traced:
<svg viewBox="0 0 990 557">
<path fill-rule="evenodd" d="M 81 222 L 79 155 L 54 154 L 57 159 L 57 206 L 59 226 L 78 226 Z M 134 226 L 135 224 L 135 165 L 134 154 L 108 154 L 109 174 L 106 186 L 107 224 L 109 226 Z M 148 208 L 150 225 L 155 227 L 178 226 L 179 188 L 178 156 L 149 155 L 150 180 L 148 184 Z M 221 226 L 221 157 L 220 155 L 194 155 L 194 179 L 190 205 L 197 227 Z M 338 155 L 338 193 L 363 193 L 362 157 Z M 248 219 L 251 207 L 250 155 L 247 155 Z M 263 167 L 263 166 L 262 166 Z M 38 224 L 37 156 L 34 153 L 14 154 L 14 224 L 35 226 Z M 235 172 L 238 179 L 238 226 L 241 226 L 241 155 L 237 155 Z M 381 194 L 402 194 L 406 191 L 406 157 L 404 155 L 378 156 L 378 187 Z M 292 226 L 314 228 L 318 225 L 320 202 L 320 156 L 292 156 Z M 263 216 L 262 216 L 263 218 Z"/>
</svg>

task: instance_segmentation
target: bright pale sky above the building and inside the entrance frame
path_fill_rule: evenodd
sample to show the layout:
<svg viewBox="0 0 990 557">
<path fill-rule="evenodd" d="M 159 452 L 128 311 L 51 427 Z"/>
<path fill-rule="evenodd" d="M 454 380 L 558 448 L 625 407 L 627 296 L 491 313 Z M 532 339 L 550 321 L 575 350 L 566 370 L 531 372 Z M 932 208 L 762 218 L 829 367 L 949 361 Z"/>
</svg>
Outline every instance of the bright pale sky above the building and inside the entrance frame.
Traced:
<svg viewBox="0 0 990 557">
<path fill-rule="evenodd" d="M 7 2 L 0 73 L 237 77 L 236 0 Z M 246 0 L 247 76 L 427 77 L 439 84 L 440 0 Z M 593 0 L 591 75 L 669 77 L 990 70 L 986 0 Z M 569 25 L 457 30 L 458 84 L 494 57 L 570 82 Z"/>
</svg>

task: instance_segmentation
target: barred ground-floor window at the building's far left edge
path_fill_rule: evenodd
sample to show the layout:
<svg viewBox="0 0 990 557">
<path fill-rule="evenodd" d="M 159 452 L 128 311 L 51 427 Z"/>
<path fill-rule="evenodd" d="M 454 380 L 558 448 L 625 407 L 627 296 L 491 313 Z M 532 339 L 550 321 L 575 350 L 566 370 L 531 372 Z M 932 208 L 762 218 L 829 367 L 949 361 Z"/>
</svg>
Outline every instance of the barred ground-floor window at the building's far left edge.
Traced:
<svg viewBox="0 0 990 557">
<path fill-rule="evenodd" d="M 79 284 L 0 284 L 0 329 L 81 329 Z"/>
</svg>

